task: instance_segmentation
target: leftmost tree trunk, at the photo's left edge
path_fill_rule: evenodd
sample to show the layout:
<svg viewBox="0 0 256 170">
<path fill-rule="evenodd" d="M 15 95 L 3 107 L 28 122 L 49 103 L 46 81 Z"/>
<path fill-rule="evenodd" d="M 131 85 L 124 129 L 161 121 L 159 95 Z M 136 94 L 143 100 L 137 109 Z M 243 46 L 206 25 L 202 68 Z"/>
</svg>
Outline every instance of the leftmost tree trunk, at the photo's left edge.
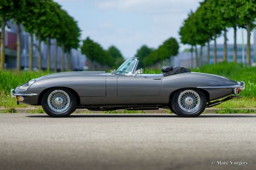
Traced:
<svg viewBox="0 0 256 170">
<path fill-rule="evenodd" d="M 0 57 L 0 70 L 5 69 L 5 25 L 6 16 L 5 13 L 2 14 L 2 25 L 1 25 L 1 57 Z"/>
</svg>

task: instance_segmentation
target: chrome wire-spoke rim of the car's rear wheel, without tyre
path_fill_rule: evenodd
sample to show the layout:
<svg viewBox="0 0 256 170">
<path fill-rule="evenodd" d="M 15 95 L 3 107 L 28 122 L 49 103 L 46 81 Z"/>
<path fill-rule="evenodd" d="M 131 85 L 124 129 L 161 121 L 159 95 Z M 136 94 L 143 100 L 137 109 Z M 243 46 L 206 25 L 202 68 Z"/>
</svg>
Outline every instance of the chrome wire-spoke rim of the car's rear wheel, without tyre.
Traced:
<svg viewBox="0 0 256 170">
<path fill-rule="evenodd" d="M 194 90 L 184 90 L 180 93 L 178 98 L 179 107 L 185 112 L 196 111 L 200 103 L 200 96 Z"/>
</svg>

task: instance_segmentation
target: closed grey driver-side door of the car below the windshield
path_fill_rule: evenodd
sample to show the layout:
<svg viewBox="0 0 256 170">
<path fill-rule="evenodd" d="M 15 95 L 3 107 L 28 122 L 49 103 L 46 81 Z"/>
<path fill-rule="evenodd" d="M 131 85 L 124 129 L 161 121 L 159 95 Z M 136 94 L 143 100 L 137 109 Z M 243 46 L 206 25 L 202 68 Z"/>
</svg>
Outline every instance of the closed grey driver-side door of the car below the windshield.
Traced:
<svg viewBox="0 0 256 170">
<path fill-rule="evenodd" d="M 118 75 L 118 97 L 158 96 L 162 74 Z"/>
</svg>

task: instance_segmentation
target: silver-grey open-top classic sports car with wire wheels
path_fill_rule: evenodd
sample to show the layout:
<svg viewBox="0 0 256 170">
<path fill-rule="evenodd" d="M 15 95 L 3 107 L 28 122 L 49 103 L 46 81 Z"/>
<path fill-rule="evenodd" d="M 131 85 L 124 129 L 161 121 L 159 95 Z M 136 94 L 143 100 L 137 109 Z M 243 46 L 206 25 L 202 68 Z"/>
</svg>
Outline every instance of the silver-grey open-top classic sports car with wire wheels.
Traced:
<svg viewBox="0 0 256 170">
<path fill-rule="evenodd" d="M 244 82 L 181 67 L 165 66 L 162 74 L 143 74 L 142 69 L 136 70 L 138 62 L 138 58 L 128 58 L 110 73 L 82 71 L 41 76 L 12 89 L 11 95 L 18 104 L 41 105 L 53 117 L 68 116 L 77 108 L 163 108 L 182 117 L 195 117 L 206 107 L 241 98 L 238 94 L 245 89 Z"/>
</svg>

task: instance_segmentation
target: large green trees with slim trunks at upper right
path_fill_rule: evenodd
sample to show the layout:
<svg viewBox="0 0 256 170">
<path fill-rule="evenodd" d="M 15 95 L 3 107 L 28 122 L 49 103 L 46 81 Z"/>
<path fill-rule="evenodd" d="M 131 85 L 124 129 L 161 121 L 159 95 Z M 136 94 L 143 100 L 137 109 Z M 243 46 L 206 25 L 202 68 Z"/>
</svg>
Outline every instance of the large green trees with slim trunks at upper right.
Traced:
<svg viewBox="0 0 256 170">
<path fill-rule="evenodd" d="M 183 21 L 179 30 L 180 41 L 183 44 L 192 46 L 204 45 L 209 40 L 215 40 L 216 37 L 224 33 L 224 60 L 226 52 L 226 28 L 234 29 L 234 60 L 236 61 L 236 29 L 242 27 L 247 29 L 248 42 L 250 50 L 250 32 L 254 28 L 256 18 L 255 0 L 204 0 L 200 3 L 194 12 L 191 11 L 188 17 Z M 216 57 L 215 45 L 215 57 Z M 216 59 L 216 58 L 215 58 Z M 247 63 L 250 61 L 250 52 L 247 51 Z"/>
</svg>

